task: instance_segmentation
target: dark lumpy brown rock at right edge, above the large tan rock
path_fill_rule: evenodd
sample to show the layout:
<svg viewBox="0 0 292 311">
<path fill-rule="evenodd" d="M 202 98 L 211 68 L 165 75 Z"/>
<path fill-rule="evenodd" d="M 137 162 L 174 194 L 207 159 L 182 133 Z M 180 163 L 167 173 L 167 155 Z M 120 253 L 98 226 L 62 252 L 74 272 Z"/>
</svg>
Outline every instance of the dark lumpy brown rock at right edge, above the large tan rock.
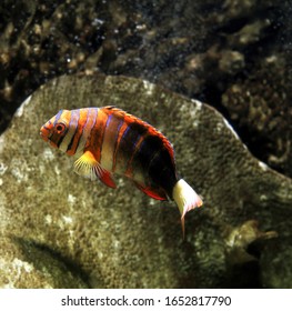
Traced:
<svg viewBox="0 0 292 311">
<path fill-rule="evenodd" d="M 253 153 L 291 177 L 292 89 L 286 68 L 282 53 L 266 57 L 254 66 L 253 80 L 239 81 L 225 91 L 222 104 L 230 119 L 243 129 L 241 137 L 249 141 Z M 243 134 L 246 129 L 248 134 Z"/>
</svg>

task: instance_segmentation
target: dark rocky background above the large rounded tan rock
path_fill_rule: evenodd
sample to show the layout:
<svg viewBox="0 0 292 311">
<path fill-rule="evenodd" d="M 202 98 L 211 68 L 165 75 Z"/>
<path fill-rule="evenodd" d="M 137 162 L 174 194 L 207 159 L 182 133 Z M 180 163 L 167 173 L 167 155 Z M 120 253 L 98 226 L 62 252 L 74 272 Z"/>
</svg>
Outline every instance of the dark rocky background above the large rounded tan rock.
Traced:
<svg viewBox="0 0 292 311">
<path fill-rule="evenodd" d="M 215 107 L 291 177 L 291 14 L 280 0 L 1 1 L 0 131 L 51 78 L 125 74 Z"/>
</svg>

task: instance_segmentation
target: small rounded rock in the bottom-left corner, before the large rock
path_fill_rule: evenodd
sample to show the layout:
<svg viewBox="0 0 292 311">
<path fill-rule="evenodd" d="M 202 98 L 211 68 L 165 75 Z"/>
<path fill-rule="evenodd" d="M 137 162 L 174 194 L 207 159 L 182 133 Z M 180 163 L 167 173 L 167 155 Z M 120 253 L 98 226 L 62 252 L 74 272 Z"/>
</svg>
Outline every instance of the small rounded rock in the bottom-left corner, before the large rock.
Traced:
<svg viewBox="0 0 292 311">
<path fill-rule="evenodd" d="M 0 288 L 88 288 L 70 260 L 26 237 L 1 237 Z"/>
</svg>

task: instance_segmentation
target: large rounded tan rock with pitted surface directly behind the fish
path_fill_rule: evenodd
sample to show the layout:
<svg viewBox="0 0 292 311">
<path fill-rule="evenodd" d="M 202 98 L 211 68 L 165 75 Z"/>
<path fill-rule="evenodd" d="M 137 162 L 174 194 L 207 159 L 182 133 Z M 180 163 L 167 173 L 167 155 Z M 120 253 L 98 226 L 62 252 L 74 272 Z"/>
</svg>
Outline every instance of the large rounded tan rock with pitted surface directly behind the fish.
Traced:
<svg viewBox="0 0 292 311">
<path fill-rule="evenodd" d="M 61 108 L 107 104 L 161 130 L 174 146 L 179 171 L 203 195 L 204 207 L 187 217 L 184 241 L 173 202 L 149 199 L 125 179 L 117 178 L 117 190 L 85 180 L 73 172 L 73 159 L 39 137 Z M 236 287 L 226 267 L 228 237 L 249 220 L 259 222 L 254 232 L 275 231 L 273 239 L 291 247 L 281 235 L 291 238 L 292 181 L 253 158 L 213 108 L 139 79 L 79 74 L 41 87 L 1 137 L 0 187 L 0 260 L 17 262 L 9 269 L 28 280 L 13 287 Z M 248 249 L 253 239 L 243 241 Z M 273 282 L 278 272 L 256 258 L 259 287 L 261 275 L 269 287 L 292 285 L 291 270 Z M 282 252 L 273 258 L 285 262 Z M 11 283 L 7 269 L 1 264 L 2 285 Z"/>
</svg>

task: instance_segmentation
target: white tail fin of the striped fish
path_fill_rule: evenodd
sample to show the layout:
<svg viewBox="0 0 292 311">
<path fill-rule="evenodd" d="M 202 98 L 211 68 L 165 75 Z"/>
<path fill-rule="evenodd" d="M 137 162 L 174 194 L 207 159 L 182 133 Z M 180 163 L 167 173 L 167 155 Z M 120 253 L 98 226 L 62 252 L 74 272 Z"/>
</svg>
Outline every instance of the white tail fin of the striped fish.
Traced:
<svg viewBox="0 0 292 311">
<path fill-rule="evenodd" d="M 181 213 L 181 225 L 184 237 L 184 215 L 187 212 L 200 208 L 203 204 L 202 199 L 195 193 L 195 191 L 183 179 L 180 179 L 172 192 L 172 197 L 179 207 Z"/>
</svg>

